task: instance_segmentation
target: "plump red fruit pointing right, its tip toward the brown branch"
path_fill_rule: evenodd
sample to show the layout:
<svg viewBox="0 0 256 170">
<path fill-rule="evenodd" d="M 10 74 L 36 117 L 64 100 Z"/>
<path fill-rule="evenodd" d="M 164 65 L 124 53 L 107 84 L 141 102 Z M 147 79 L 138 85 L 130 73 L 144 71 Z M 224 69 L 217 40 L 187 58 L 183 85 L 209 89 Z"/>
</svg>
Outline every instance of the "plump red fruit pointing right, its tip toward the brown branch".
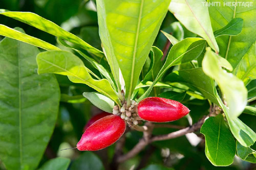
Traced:
<svg viewBox="0 0 256 170">
<path fill-rule="evenodd" d="M 175 100 L 148 97 L 138 104 L 138 115 L 151 122 L 175 121 L 189 113 L 189 109 Z"/>
</svg>

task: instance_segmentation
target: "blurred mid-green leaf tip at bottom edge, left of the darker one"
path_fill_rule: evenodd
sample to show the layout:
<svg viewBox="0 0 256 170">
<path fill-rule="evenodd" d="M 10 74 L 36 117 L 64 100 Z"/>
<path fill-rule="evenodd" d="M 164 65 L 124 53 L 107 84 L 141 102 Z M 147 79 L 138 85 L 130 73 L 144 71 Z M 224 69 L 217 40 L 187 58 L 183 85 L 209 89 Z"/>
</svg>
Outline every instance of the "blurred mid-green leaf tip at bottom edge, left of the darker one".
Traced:
<svg viewBox="0 0 256 170">
<path fill-rule="evenodd" d="M 38 170 L 67 170 L 70 163 L 70 159 L 57 157 L 47 161 Z"/>
</svg>

